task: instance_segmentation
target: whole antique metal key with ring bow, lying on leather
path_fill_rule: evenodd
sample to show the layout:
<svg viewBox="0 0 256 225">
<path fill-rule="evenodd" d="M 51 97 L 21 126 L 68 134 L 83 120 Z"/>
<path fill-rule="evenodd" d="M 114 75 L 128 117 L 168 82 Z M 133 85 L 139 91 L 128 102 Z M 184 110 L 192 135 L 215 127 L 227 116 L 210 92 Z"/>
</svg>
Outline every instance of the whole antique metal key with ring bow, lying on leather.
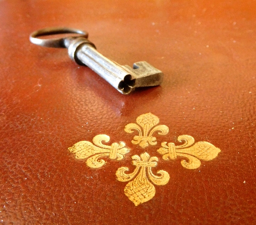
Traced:
<svg viewBox="0 0 256 225">
<path fill-rule="evenodd" d="M 64 38 L 40 39 L 38 37 L 52 34 L 80 34 Z M 121 66 L 104 57 L 88 39 L 88 33 L 72 28 L 44 28 L 30 34 L 30 41 L 36 45 L 67 48 L 72 60 L 85 65 L 108 81 L 122 94 L 129 94 L 137 87 L 160 85 L 163 81 L 162 71 L 145 61 L 130 66 Z"/>
</svg>

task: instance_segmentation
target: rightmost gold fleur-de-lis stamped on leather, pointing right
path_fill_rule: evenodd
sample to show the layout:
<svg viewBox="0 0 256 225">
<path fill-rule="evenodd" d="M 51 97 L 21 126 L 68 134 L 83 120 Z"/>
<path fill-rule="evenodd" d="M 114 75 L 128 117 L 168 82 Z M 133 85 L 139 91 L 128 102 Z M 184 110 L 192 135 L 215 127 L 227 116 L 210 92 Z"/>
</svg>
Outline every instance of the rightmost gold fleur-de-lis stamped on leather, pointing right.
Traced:
<svg viewBox="0 0 256 225">
<path fill-rule="evenodd" d="M 175 146 L 174 143 L 162 142 L 162 147 L 157 151 L 163 155 L 164 160 L 176 159 L 177 156 L 186 157 L 186 160 L 181 161 L 181 165 L 187 169 L 196 169 L 201 165 L 201 160 L 209 161 L 217 157 L 221 151 L 209 142 L 196 142 L 195 139 L 189 135 L 180 135 L 177 140 L 179 142 L 185 141 L 183 145 Z"/>
</svg>

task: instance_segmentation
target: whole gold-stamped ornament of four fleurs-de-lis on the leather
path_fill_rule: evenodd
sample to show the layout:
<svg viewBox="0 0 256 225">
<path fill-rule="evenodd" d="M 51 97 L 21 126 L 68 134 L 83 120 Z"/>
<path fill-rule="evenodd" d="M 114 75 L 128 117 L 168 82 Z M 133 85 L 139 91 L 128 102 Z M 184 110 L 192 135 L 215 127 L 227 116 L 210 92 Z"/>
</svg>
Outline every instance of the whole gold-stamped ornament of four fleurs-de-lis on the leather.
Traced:
<svg viewBox="0 0 256 225">
<path fill-rule="evenodd" d="M 142 148 L 153 145 L 151 151 L 157 150 L 158 153 L 163 155 L 164 160 L 174 160 L 177 157 L 182 157 L 181 165 L 188 169 L 199 168 L 200 160 L 212 160 L 221 152 L 219 148 L 209 142 L 195 142 L 194 138 L 189 135 L 180 135 L 177 138 L 181 145 L 162 142 L 162 147 L 154 148 L 154 145 L 157 145 L 156 137 L 152 136 L 154 132 L 158 131 L 158 134 L 161 135 L 166 135 L 169 132 L 166 125 L 157 125 L 159 121 L 159 118 L 154 114 L 142 114 L 137 117 L 137 124 L 129 123 L 125 126 L 125 131 L 127 133 L 138 131 L 139 135 L 134 136 L 131 142 L 135 145 L 139 144 Z M 122 160 L 131 151 L 122 141 L 114 142 L 111 145 L 102 143 L 109 141 L 110 137 L 108 135 L 99 134 L 93 138 L 93 143 L 80 141 L 68 149 L 75 154 L 77 159 L 87 159 L 86 165 L 88 167 L 101 168 L 106 163 L 105 158 Z M 153 174 L 152 168 L 157 166 L 159 159 L 155 156 L 150 157 L 147 152 L 140 154 L 140 156 L 133 155 L 131 159 L 131 164 L 135 166 L 134 171 L 129 174 L 128 167 L 120 167 L 116 171 L 116 179 L 121 182 L 128 182 L 124 189 L 125 195 L 137 206 L 152 199 L 156 193 L 154 185 L 166 185 L 170 176 L 164 170 L 159 170 L 156 174 Z"/>
</svg>

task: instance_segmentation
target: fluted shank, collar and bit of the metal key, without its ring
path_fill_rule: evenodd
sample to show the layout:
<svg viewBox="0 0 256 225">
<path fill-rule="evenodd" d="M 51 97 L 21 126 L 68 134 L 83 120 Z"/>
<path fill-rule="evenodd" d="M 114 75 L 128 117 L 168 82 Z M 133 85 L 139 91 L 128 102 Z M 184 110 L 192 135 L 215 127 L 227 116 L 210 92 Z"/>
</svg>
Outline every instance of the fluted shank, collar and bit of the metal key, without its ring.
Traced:
<svg viewBox="0 0 256 225">
<path fill-rule="evenodd" d="M 149 63 L 134 63 L 133 68 L 121 66 L 100 54 L 86 38 L 76 38 L 65 45 L 76 63 L 91 68 L 122 94 L 129 94 L 136 87 L 159 85 L 163 80 L 163 73 Z"/>
</svg>

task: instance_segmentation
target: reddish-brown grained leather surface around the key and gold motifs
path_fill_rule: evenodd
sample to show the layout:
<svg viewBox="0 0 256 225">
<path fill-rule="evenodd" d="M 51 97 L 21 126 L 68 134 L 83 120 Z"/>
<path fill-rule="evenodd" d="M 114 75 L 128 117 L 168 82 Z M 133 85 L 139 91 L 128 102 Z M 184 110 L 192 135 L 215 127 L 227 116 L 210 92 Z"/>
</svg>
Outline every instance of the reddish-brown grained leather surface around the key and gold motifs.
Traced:
<svg viewBox="0 0 256 225">
<path fill-rule="evenodd" d="M 252 0 L 1 1 L 0 223 L 256 224 L 255 9 Z M 66 49 L 29 42 L 51 26 L 88 31 L 121 65 L 147 61 L 162 85 L 118 93 Z M 147 112 L 170 131 L 142 149 L 124 127 Z M 131 151 L 88 168 L 68 147 L 97 134 Z M 157 147 L 181 134 L 221 152 L 195 170 L 164 161 Z M 144 151 L 170 181 L 136 207 L 115 173 L 133 171 L 131 156 Z"/>
</svg>

